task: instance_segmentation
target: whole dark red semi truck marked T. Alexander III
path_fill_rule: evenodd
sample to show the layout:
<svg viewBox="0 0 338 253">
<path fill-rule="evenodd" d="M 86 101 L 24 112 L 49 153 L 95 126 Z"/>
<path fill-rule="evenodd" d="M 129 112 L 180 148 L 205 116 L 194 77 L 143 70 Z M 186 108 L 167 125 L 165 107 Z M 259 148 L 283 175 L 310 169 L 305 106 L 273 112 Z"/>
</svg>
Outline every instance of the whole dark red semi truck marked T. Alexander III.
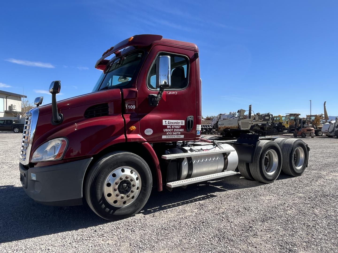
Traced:
<svg viewBox="0 0 338 253">
<path fill-rule="evenodd" d="M 89 94 L 26 115 L 20 180 L 29 197 L 48 205 L 87 202 L 107 220 L 138 213 L 151 189 L 186 187 L 234 175 L 273 182 L 299 176 L 309 147 L 299 139 L 201 136 L 201 80 L 195 44 L 135 35 L 103 53 Z M 186 189 L 189 190 L 189 189 Z"/>
</svg>

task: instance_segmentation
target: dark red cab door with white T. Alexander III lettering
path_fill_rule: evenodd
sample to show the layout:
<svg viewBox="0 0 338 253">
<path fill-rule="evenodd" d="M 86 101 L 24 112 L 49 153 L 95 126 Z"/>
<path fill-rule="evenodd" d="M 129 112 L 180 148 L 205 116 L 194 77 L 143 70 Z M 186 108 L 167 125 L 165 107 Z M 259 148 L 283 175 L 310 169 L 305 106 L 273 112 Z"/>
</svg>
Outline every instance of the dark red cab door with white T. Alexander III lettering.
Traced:
<svg viewBox="0 0 338 253">
<path fill-rule="evenodd" d="M 165 89 L 158 105 L 152 106 L 149 95 L 159 92 L 156 59 L 160 56 L 170 56 L 171 86 Z M 161 45 L 150 50 L 137 81 L 137 111 L 143 138 L 165 142 L 192 140 L 200 135 L 200 128 L 196 130 L 195 80 L 194 51 Z"/>
</svg>

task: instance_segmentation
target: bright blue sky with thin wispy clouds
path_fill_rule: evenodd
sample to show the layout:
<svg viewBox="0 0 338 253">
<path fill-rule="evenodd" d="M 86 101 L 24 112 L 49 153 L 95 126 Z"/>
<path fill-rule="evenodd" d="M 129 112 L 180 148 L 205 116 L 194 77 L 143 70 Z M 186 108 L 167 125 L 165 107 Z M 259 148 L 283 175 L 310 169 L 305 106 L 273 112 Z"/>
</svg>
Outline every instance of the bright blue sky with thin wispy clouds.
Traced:
<svg viewBox="0 0 338 253">
<path fill-rule="evenodd" d="M 61 80 L 57 99 L 88 93 L 102 53 L 135 34 L 200 50 L 203 116 L 338 115 L 338 1 L 3 1 L 0 90 L 30 101 Z"/>
</svg>

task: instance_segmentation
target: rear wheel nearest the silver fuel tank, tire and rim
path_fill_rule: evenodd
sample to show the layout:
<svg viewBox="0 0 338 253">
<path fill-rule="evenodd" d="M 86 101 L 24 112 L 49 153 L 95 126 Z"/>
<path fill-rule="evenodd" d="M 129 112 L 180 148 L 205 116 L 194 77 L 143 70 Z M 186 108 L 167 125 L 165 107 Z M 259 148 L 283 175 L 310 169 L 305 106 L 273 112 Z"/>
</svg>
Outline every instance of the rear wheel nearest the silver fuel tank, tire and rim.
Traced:
<svg viewBox="0 0 338 253">
<path fill-rule="evenodd" d="M 282 170 L 282 152 L 279 145 L 274 141 L 258 142 L 253 163 L 249 164 L 249 168 L 252 177 L 257 181 L 269 184 L 276 180 Z"/>
</svg>

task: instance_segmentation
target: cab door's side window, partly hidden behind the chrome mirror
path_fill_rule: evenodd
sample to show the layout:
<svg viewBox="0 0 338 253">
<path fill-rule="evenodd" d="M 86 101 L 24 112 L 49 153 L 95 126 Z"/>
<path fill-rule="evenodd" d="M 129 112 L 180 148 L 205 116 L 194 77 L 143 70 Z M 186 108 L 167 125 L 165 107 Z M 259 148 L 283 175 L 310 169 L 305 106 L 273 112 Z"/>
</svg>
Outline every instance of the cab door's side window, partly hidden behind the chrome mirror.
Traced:
<svg viewBox="0 0 338 253">
<path fill-rule="evenodd" d="M 169 55 L 171 62 L 171 86 L 169 90 L 184 89 L 188 86 L 189 59 L 188 57 L 170 53 L 161 53 L 159 56 Z M 148 78 L 147 86 L 149 89 L 156 89 L 156 61 L 152 64 Z"/>
</svg>

